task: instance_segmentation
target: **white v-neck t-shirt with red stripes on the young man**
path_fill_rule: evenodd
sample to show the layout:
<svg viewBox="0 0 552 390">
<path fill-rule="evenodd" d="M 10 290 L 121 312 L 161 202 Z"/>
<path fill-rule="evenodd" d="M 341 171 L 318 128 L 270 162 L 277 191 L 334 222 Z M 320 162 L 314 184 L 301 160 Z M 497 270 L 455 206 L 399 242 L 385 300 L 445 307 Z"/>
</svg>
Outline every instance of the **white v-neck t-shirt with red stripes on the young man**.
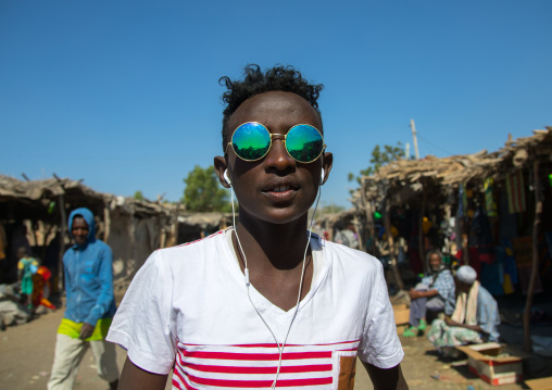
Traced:
<svg viewBox="0 0 552 390">
<path fill-rule="evenodd" d="M 311 248 L 319 269 L 299 304 L 277 388 L 337 389 L 354 375 L 356 355 L 380 368 L 397 366 L 404 353 L 381 263 L 314 234 Z M 147 372 L 168 374 L 174 365 L 173 389 L 269 388 L 278 348 L 235 259 L 225 230 L 153 252 L 106 339 Z M 249 290 L 281 343 L 296 307 L 285 312 L 252 285 Z"/>
</svg>

